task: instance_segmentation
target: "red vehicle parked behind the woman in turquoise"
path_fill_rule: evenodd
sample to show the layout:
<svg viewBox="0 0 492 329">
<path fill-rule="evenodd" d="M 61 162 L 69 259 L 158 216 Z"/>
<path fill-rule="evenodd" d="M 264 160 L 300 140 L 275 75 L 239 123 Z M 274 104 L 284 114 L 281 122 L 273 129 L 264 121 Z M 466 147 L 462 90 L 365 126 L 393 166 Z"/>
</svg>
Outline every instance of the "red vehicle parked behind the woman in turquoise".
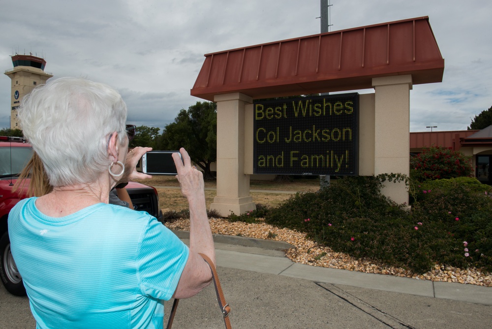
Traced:
<svg viewBox="0 0 492 329">
<path fill-rule="evenodd" d="M 12 192 L 12 188 L 31 154 L 31 145 L 24 138 L 0 136 L 0 278 L 7 291 L 16 296 L 26 295 L 26 290 L 10 252 L 7 219 L 10 209 L 27 197 L 27 186 L 16 192 Z M 147 211 L 159 220 L 162 218 L 155 188 L 129 182 L 126 190 L 135 210 Z"/>
</svg>

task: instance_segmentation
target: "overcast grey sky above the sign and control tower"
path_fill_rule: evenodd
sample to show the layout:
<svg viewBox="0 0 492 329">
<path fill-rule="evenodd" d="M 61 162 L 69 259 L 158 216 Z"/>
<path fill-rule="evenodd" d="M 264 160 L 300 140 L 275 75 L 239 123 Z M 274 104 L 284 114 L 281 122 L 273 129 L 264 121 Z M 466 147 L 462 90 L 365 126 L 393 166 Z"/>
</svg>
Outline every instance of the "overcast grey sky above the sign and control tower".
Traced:
<svg viewBox="0 0 492 329">
<path fill-rule="evenodd" d="M 331 4 L 331 31 L 429 16 L 444 77 L 413 86 L 410 131 L 465 130 L 492 106 L 492 1 Z M 116 88 L 128 123 L 164 128 L 202 100 L 190 89 L 204 54 L 316 34 L 319 16 L 319 0 L 0 0 L 0 69 L 31 52 L 55 77 Z M 0 128 L 10 127 L 10 82 L 0 77 Z"/>
</svg>

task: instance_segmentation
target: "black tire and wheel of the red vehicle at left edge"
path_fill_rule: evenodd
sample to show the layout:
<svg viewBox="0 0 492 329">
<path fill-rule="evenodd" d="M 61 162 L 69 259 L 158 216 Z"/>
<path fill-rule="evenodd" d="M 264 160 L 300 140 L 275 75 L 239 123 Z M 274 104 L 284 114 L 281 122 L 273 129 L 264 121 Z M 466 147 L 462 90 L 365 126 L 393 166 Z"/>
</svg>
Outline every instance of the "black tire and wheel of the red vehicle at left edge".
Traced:
<svg viewBox="0 0 492 329">
<path fill-rule="evenodd" d="M 26 296 L 26 288 L 10 252 L 8 232 L 3 233 L 0 238 L 0 277 L 1 283 L 10 294 Z"/>
</svg>

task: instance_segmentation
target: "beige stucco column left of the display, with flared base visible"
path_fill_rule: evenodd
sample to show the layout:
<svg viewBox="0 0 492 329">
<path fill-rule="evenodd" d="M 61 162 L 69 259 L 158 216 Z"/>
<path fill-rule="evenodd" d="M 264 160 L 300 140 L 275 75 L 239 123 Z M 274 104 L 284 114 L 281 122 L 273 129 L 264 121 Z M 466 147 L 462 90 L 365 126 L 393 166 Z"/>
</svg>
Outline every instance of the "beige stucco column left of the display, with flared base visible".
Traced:
<svg viewBox="0 0 492 329">
<path fill-rule="evenodd" d="M 245 106 L 253 99 L 241 93 L 216 95 L 217 196 L 211 210 L 227 217 L 256 209 L 245 174 Z"/>
</svg>

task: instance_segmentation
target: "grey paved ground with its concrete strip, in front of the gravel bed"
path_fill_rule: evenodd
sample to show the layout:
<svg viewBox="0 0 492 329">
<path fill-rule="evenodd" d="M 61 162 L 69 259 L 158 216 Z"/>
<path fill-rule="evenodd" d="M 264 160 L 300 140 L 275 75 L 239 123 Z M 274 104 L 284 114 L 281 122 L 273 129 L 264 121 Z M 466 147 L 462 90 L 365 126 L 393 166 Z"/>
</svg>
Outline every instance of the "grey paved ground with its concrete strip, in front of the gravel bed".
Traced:
<svg viewBox="0 0 492 329">
<path fill-rule="evenodd" d="M 187 232 L 176 232 L 188 243 Z M 215 235 L 232 328 L 491 328 L 492 288 L 293 263 L 285 242 Z M 172 301 L 165 302 L 166 316 Z M 35 328 L 0 288 L 0 329 Z M 225 328 L 213 285 L 182 299 L 173 329 Z"/>
</svg>

